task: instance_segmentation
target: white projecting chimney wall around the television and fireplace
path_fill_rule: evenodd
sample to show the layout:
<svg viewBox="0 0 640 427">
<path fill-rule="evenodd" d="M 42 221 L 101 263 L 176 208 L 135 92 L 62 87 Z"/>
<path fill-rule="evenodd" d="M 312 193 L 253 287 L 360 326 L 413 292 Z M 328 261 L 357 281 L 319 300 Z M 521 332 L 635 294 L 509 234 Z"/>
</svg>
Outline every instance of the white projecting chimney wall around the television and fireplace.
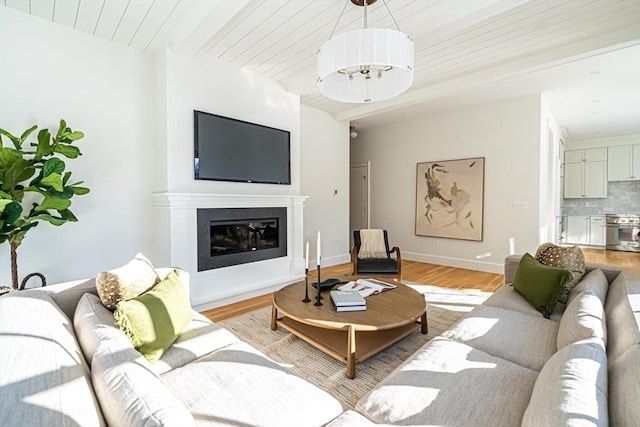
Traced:
<svg viewBox="0 0 640 427">
<path fill-rule="evenodd" d="M 303 274 L 300 194 L 300 102 L 279 84 L 203 56 L 165 51 L 157 60 L 156 87 L 165 99 L 154 183 L 154 262 L 191 273 L 191 302 L 207 309 L 269 293 Z M 284 129 L 291 138 L 291 185 L 194 179 L 193 110 Z M 164 161 L 164 164 L 162 162 Z M 197 271 L 196 210 L 219 207 L 287 207 L 287 256 Z"/>
</svg>

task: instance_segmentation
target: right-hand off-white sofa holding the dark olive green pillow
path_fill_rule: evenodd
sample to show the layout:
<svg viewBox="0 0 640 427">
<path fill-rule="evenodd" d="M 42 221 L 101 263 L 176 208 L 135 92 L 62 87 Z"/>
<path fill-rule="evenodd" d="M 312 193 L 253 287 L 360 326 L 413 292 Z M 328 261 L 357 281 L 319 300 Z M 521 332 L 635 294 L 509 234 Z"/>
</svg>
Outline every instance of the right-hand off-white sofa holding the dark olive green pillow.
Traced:
<svg viewBox="0 0 640 427">
<path fill-rule="evenodd" d="M 640 278 L 599 267 L 551 319 L 503 286 L 330 425 L 639 425 Z"/>
</svg>

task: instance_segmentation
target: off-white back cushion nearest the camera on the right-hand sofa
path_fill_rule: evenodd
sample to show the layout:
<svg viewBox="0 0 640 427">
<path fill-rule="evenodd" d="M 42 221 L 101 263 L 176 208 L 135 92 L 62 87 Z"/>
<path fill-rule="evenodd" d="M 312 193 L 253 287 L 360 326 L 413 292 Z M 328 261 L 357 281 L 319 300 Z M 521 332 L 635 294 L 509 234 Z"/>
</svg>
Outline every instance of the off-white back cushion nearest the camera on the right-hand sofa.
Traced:
<svg viewBox="0 0 640 427">
<path fill-rule="evenodd" d="M 578 341 L 540 371 L 524 427 L 607 426 L 607 355 L 602 342 Z"/>
</svg>

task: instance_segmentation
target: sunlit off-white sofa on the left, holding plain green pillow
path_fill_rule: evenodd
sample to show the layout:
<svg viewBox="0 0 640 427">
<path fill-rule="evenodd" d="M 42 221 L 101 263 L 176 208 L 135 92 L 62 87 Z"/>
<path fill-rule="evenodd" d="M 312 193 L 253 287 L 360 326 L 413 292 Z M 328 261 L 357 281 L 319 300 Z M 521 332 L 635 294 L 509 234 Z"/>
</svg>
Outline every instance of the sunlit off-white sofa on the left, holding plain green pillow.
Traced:
<svg viewBox="0 0 640 427">
<path fill-rule="evenodd" d="M 198 313 L 150 364 L 113 326 L 95 280 L 0 297 L 0 425 L 311 426 L 342 411 Z"/>
</svg>

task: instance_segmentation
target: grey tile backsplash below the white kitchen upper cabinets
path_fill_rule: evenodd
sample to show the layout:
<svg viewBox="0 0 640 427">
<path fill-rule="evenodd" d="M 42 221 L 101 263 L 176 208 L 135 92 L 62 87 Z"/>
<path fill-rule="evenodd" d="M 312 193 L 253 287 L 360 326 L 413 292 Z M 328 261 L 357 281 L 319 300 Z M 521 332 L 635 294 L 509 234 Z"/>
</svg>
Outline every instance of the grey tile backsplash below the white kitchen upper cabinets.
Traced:
<svg viewBox="0 0 640 427">
<path fill-rule="evenodd" d="M 640 214 L 640 181 L 607 183 L 606 199 L 564 199 L 563 215 Z"/>
</svg>

